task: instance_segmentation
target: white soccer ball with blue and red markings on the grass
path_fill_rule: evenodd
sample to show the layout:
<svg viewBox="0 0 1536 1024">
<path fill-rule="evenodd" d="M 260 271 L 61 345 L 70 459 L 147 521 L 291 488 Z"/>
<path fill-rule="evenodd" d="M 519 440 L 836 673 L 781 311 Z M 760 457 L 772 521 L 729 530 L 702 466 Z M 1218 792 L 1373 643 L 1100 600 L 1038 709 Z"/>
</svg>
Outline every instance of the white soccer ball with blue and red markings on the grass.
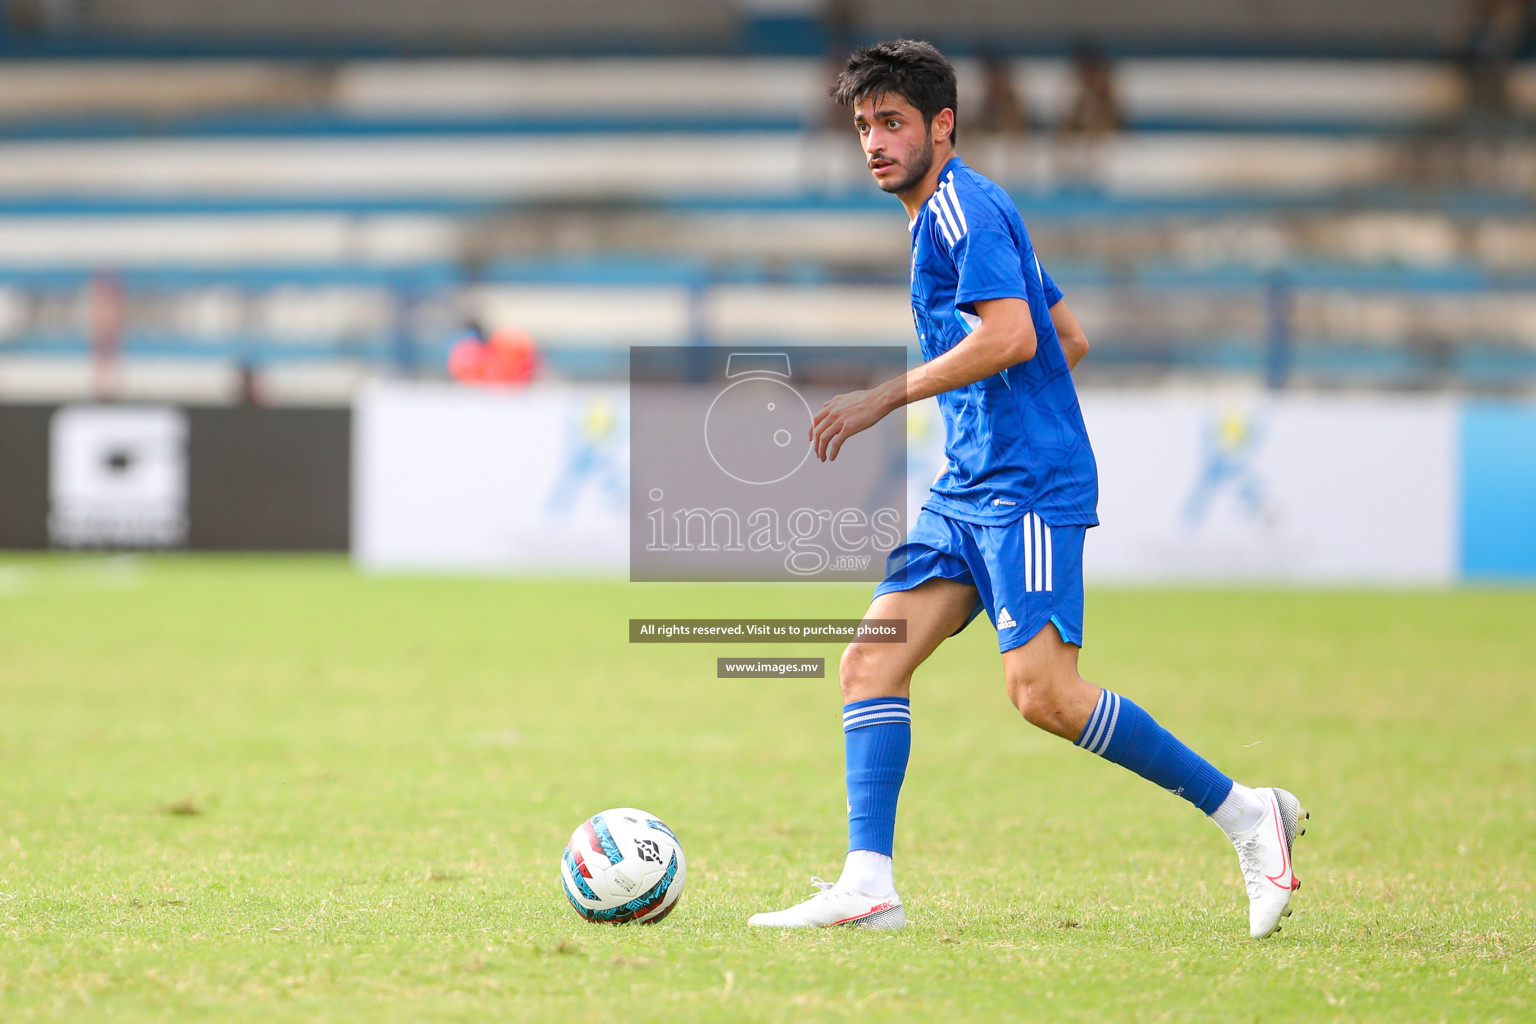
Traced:
<svg viewBox="0 0 1536 1024">
<path fill-rule="evenodd" d="M 660 921 L 677 906 L 685 874 L 673 831 L 634 808 L 582 821 L 561 858 L 565 898 L 587 921 Z"/>
</svg>

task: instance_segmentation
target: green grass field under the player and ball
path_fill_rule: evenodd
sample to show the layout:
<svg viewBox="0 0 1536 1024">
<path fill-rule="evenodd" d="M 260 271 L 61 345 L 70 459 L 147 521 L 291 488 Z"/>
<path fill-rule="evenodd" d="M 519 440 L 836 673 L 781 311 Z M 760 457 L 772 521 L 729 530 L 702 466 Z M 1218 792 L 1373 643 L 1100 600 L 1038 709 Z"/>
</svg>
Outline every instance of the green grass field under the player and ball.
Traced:
<svg viewBox="0 0 1536 1024">
<path fill-rule="evenodd" d="M 1536 1019 L 1536 591 L 1089 594 L 1089 679 L 1310 808 L 1272 940 L 1198 812 L 1018 720 L 985 623 L 914 685 L 906 930 L 754 933 L 842 861 L 839 697 L 714 659 L 837 648 L 625 620 L 865 594 L 0 560 L 0 1019 Z M 561 895 L 616 804 L 687 847 L 664 924 Z"/>
</svg>

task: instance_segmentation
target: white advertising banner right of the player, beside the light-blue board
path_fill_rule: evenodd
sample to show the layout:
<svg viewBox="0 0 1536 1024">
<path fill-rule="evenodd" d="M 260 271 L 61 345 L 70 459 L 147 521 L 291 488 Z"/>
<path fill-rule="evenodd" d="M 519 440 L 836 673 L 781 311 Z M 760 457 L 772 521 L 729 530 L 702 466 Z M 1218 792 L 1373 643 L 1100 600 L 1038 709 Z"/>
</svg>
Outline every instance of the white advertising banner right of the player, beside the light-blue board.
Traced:
<svg viewBox="0 0 1536 1024">
<path fill-rule="evenodd" d="M 1089 580 L 1444 583 L 1456 405 L 1422 398 L 1089 393 Z"/>
</svg>

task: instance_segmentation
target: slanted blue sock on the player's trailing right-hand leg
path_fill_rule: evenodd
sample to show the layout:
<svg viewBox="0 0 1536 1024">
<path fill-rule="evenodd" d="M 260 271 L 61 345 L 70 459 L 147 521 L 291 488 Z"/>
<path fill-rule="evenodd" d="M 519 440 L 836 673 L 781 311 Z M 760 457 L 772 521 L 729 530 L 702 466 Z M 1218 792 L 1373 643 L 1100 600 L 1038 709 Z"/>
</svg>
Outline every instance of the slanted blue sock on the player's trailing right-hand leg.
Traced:
<svg viewBox="0 0 1536 1024">
<path fill-rule="evenodd" d="M 1232 792 L 1232 780 L 1210 761 L 1180 743 L 1135 703 L 1107 689 L 1098 694 L 1077 745 L 1155 781 L 1206 814 Z"/>
</svg>

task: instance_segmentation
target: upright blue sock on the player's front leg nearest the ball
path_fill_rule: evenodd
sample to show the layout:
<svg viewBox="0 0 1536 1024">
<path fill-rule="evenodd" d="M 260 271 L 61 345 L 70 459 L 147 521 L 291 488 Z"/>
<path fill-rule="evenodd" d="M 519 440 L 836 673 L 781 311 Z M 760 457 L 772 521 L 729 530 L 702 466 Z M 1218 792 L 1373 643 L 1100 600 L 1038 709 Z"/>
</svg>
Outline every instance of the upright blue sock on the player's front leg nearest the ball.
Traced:
<svg viewBox="0 0 1536 1024">
<path fill-rule="evenodd" d="M 843 705 L 848 763 L 848 849 L 891 855 L 895 798 L 912 751 L 912 702 L 874 697 Z"/>
</svg>

